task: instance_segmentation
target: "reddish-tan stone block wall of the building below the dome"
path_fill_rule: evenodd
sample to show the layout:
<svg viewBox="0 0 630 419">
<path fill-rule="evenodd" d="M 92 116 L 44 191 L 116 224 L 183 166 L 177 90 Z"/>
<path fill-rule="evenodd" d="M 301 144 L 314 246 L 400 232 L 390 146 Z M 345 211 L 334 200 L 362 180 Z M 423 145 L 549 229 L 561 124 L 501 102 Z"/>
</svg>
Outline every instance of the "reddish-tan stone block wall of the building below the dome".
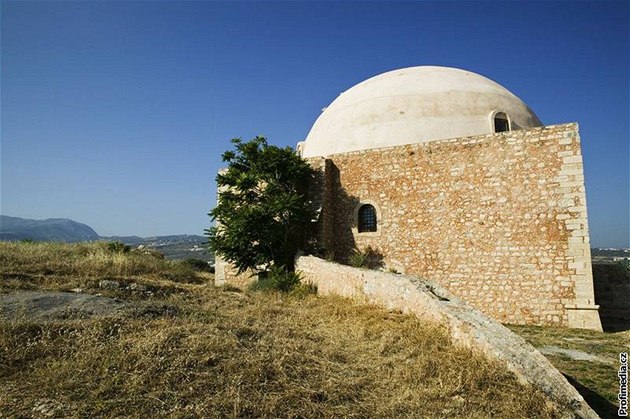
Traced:
<svg viewBox="0 0 630 419">
<path fill-rule="evenodd" d="M 434 280 L 501 322 L 601 329 L 577 131 L 329 156 L 322 244 L 337 260 L 371 246 L 386 268 Z M 363 203 L 377 210 L 376 232 L 357 231 Z"/>
</svg>

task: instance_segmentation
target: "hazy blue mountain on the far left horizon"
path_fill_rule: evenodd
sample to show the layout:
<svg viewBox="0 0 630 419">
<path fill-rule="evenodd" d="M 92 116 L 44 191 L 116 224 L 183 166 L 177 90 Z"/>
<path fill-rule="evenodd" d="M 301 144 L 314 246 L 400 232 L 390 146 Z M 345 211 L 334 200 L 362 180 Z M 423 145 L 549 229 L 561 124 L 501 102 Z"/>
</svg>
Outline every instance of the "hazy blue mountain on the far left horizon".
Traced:
<svg viewBox="0 0 630 419">
<path fill-rule="evenodd" d="M 90 226 L 65 218 L 29 220 L 0 215 L 0 240 L 60 241 L 74 243 L 98 240 Z"/>
</svg>

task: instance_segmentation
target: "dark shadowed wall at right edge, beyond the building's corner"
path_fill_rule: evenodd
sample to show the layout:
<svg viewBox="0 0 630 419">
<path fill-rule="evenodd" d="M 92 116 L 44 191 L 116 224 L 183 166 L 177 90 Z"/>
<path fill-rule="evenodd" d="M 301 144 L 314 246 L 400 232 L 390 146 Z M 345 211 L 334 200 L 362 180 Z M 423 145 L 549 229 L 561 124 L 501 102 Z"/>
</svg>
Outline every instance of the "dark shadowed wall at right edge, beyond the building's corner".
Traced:
<svg viewBox="0 0 630 419">
<path fill-rule="evenodd" d="M 630 330 L 630 271 L 620 263 L 593 263 L 593 285 L 604 331 Z"/>
</svg>

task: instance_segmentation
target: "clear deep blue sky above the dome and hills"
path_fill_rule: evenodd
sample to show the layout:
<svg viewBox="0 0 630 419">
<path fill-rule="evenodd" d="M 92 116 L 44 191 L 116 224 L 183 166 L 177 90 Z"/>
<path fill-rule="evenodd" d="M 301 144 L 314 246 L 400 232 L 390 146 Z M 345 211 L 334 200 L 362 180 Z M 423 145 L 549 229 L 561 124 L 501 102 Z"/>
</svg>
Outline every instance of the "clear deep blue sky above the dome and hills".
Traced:
<svg viewBox="0 0 630 419">
<path fill-rule="evenodd" d="M 1 4 L 1 212 L 202 234 L 233 137 L 295 146 L 340 92 L 442 65 L 577 121 L 593 246 L 630 246 L 628 2 Z"/>
</svg>

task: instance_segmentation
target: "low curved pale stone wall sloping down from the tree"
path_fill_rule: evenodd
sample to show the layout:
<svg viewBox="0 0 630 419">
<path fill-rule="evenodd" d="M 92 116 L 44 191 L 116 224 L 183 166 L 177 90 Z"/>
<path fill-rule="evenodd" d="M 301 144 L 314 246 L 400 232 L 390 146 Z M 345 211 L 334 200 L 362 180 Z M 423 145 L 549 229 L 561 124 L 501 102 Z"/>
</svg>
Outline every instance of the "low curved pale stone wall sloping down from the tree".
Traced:
<svg viewBox="0 0 630 419">
<path fill-rule="evenodd" d="M 317 285 L 320 294 L 336 294 L 413 313 L 444 324 L 453 341 L 481 350 L 516 376 L 583 418 L 597 418 L 584 398 L 533 346 L 439 285 L 416 277 L 351 268 L 314 256 L 300 256 L 296 270 Z"/>
</svg>

